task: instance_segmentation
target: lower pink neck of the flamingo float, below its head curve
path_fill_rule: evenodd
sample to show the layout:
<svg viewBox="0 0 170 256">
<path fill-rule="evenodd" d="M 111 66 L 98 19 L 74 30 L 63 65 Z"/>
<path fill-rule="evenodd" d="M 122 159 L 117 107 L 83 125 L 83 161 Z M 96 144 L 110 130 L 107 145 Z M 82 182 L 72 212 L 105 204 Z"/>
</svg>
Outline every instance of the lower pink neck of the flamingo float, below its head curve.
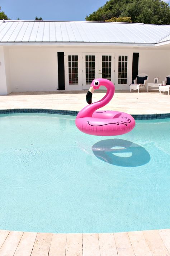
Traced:
<svg viewBox="0 0 170 256">
<path fill-rule="evenodd" d="M 86 107 L 84 107 L 78 114 L 77 118 L 82 118 L 82 117 L 92 117 L 93 113 L 99 109 L 104 107 L 106 104 L 110 102 L 110 100 L 113 98 L 114 95 L 114 88 L 108 88 L 107 87 L 107 93 L 106 95 L 99 100 L 98 102 L 94 102 Z"/>
</svg>

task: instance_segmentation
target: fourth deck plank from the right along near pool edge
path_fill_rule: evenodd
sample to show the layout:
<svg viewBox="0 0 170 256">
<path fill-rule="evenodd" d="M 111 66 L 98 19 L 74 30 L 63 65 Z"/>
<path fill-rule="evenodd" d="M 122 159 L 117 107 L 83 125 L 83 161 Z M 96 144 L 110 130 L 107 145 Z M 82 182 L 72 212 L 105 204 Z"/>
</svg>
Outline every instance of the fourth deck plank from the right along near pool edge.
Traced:
<svg viewBox="0 0 170 256">
<path fill-rule="evenodd" d="M 114 233 L 114 239 L 119 256 L 135 256 L 128 233 Z"/>
</svg>

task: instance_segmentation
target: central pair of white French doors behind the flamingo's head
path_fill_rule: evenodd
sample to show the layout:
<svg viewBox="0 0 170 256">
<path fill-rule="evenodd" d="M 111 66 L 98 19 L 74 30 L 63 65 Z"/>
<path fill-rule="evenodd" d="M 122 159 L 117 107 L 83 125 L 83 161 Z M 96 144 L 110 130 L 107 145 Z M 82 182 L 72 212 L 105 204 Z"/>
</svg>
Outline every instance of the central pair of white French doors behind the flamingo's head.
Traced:
<svg viewBox="0 0 170 256">
<path fill-rule="evenodd" d="M 82 89 L 89 89 L 94 78 L 106 78 L 114 82 L 114 53 L 82 54 Z M 102 87 L 100 89 L 105 88 Z"/>
</svg>

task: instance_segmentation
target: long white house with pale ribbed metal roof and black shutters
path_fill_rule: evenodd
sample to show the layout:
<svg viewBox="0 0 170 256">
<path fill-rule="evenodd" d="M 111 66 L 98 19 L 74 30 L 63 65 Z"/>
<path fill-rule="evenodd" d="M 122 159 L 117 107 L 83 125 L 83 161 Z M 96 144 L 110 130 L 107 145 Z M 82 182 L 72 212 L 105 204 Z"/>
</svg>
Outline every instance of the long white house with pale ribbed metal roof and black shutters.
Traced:
<svg viewBox="0 0 170 256">
<path fill-rule="evenodd" d="M 107 78 L 129 89 L 170 74 L 170 26 L 139 23 L 0 21 L 0 94 L 88 89 Z"/>
</svg>

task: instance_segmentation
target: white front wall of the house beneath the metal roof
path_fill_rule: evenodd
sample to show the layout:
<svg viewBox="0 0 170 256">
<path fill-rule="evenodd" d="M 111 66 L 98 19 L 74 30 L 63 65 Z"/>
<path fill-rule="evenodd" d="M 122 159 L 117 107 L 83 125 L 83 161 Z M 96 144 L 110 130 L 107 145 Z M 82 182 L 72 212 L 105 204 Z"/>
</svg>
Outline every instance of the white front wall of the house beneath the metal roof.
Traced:
<svg viewBox="0 0 170 256">
<path fill-rule="evenodd" d="M 65 56 L 83 53 L 113 53 L 114 84 L 117 90 L 129 90 L 132 81 L 133 52 L 139 53 L 138 73 L 147 73 L 148 82 L 154 77 L 164 80 L 170 74 L 170 50 L 168 48 L 118 48 L 118 47 L 75 47 L 75 46 L 1 46 L 0 47 L 0 94 L 11 91 L 56 91 L 58 88 L 57 52 L 63 51 Z M 118 56 L 128 55 L 127 85 L 118 84 Z M 65 62 L 68 59 L 65 57 Z M 4 70 L 5 68 L 5 70 Z M 80 65 L 82 69 L 82 65 Z M 97 67 L 96 67 L 97 68 Z M 68 70 L 65 69 L 67 75 Z M 81 72 L 82 74 L 82 72 Z M 82 75 L 79 77 L 79 88 L 82 89 Z M 97 77 L 96 77 L 97 78 Z M 69 90 L 69 86 L 66 85 Z"/>
</svg>

